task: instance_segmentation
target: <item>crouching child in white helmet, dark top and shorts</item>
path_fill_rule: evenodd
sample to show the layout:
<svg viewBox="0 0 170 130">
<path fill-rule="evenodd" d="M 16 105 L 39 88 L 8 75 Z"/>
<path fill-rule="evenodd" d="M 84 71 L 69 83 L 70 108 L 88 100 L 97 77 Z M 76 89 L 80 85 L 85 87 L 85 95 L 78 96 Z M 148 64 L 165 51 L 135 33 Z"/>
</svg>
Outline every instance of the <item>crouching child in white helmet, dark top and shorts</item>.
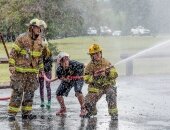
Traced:
<svg viewBox="0 0 170 130">
<path fill-rule="evenodd" d="M 63 96 L 68 96 L 72 87 L 74 87 L 75 96 L 77 97 L 81 112 L 80 116 L 83 115 L 85 110 L 84 107 L 84 96 L 82 94 L 83 79 L 70 80 L 69 76 L 82 76 L 84 73 L 84 64 L 78 61 L 70 60 L 69 54 L 60 52 L 57 56 L 57 62 L 59 63 L 56 75 L 61 80 L 61 83 L 56 91 L 56 98 L 60 104 L 60 110 L 56 115 L 64 115 L 66 113 L 66 106 Z"/>
</svg>

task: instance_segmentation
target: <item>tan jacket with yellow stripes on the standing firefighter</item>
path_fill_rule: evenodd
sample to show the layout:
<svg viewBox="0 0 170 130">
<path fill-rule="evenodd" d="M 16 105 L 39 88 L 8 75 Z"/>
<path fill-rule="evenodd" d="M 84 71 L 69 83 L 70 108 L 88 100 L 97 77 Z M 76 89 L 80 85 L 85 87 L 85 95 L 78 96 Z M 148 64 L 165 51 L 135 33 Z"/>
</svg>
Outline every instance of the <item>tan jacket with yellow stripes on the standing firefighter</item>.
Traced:
<svg viewBox="0 0 170 130">
<path fill-rule="evenodd" d="M 16 71 L 21 73 L 38 73 L 44 68 L 42 50 L 40 36 L 36 40 L 32 40 L 29 32 L 21 34 L 12 46 L 9 66 L 15 67 Z"/>
</svg>

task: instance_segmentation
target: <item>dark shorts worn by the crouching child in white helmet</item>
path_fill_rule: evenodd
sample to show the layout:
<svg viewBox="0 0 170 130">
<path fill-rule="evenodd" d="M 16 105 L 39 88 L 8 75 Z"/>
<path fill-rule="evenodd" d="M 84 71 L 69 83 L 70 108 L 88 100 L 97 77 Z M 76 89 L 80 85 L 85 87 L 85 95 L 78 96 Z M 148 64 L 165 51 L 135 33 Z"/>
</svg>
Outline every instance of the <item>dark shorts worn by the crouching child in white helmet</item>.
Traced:
<svg viewBox="0 0 170 130">
<path fill-rule="evenodd" d="M 81 89 L 83 87 L 83 83 L 84 83 L 83 80 L 71 81 L 71 82 L 62 81 L 56 91 L 56 96 L 67 97 L 72 87 L 74 87 L 75 92 L 82 93 Z"/>
</svg>

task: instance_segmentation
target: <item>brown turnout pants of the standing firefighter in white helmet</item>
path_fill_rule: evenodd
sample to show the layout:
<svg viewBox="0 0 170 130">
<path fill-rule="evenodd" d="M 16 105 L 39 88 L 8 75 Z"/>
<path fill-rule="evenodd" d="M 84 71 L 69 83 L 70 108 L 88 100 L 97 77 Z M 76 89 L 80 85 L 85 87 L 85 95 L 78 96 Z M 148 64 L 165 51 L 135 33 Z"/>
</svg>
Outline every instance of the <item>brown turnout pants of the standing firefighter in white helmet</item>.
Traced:
<svg viewBox="0 0 170 130">
<path fill-rule="evenodd" d="M 23 78 L 19 78 L 23 77 Z M 32 110 L 32 103 L 35 88 L 38 82 L 32 75 L 19 74 L 11 79 L 11 88 L 13 89 L 11 100 L 8 107 L 8 113 L 16 115 L 22 105 L 22 113 L 28 114 Z"/>
</svg>

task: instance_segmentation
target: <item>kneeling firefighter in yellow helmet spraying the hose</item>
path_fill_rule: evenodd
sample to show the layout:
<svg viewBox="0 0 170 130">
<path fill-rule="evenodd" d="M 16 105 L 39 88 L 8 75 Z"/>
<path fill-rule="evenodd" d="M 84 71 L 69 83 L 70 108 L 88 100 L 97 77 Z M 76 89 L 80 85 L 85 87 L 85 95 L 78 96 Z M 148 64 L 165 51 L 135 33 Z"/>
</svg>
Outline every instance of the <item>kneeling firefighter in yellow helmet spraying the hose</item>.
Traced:
<svg viewBox="0 0 170 130">
<path fill-rule="evenodd" d="M 118 74 L 109 61 L 102 57 L 102 49 L 98 44 L 89 48 L 90 63 L 85 68 L 85 83 L 88 84 L 88 94 L 85 96 L 86 116 L 97 114 L 96 103 L 106 94 L 108 112 L 112 119 L 118 119 L 115 79 Z"/>
</svg>

